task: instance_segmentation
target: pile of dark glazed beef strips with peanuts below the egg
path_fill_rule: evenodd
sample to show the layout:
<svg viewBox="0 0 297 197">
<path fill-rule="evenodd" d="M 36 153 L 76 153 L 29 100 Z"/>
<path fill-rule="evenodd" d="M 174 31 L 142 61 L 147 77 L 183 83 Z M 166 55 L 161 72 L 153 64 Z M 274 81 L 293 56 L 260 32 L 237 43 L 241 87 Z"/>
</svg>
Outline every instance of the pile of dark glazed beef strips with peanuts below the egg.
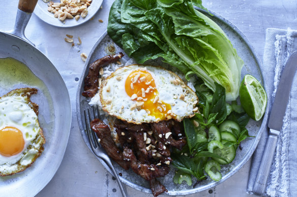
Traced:
<svg viewBox="0 0 297 197">
<path fill-rule="evenodd" d="M 129 167 L 142 178 L 150 181 L 154 196 L 167 191 L 156 178 L 169 173 L 170 149 L 182 149 L 186 144 L 180 122 L 170 120 L 159 123 L 134 125 L 121 120 L 114 123 L 121 147 L 112 140 L 110 129 L 101 120 L 91 122 L 102 147 L 114 162 L 128 170 Z"/>
</svg>

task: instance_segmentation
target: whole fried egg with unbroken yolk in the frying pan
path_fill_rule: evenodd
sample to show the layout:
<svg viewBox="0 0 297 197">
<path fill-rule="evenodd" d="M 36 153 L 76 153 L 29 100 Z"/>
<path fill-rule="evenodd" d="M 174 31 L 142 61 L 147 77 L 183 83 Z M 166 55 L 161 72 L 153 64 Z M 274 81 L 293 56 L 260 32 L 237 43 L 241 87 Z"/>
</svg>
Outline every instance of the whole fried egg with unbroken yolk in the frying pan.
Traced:
<svg viewBox="0 0 297 197">
<path fill-rule="evenodd" d="M 0 176 L 25 170 L 43 151 L 38 105 L 30 100 L 36 93 L 23 88 L 0 97 Z"/>
</svg>

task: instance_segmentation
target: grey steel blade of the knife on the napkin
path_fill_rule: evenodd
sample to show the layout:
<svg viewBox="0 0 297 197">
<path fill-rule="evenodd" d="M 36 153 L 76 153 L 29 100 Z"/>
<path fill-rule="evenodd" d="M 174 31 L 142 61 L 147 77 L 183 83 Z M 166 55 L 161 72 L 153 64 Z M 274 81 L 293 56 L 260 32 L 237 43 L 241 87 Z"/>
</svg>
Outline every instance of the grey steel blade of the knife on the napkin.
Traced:
<svg viewBox="0 0 297 197">
<path fill-rule="evenodd" d="M 280 131 L 283 125 L 290 90 L 297 68 L 297 52 L 293 52 L 287 60 L 284 70 L 281 74 L 280 82 L 276 91 L 272 109 L 270 112 L 268 127 Z"/>
</svg>

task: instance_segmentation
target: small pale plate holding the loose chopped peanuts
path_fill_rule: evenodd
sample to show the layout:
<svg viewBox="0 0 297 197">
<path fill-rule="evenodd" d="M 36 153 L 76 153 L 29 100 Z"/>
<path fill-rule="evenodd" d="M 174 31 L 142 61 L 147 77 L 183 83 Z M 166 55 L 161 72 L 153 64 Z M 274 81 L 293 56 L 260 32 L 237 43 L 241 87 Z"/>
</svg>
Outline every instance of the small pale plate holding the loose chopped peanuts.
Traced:
<svg viewBox="0 0 297 197">
<path fill-rule="evenodd" d="M 57 1 L 52 1 L 54 3 L 59 2 L 60 0 Z M 97 11 L 100 9 L 101 5 L 103 3 L 103 0 L 94 0 L 92 1 L 91 5 L 89 7 L 87 7 L 87 15 L 85 18 L 80 17 L 78 19 L 78 21 L 76 21 L 74 18 L 73 19 L 65 19 L 65 23 L 63 23 L 63 21 L 60 21 L 57 18 L 54 18 L 53 13 L 50 13 L 47 11 L 47 3 L 44 3 L 42 0 L 39 0 L 35 10 L 34 10 L 34 14 L 36 14 L 41 20 L 43 20 L 44 22 L 56 26 L 56 27 L 74 27 L 80 24 L 83 24 L 85 22 L 87 22 L 88 20 L 90 20 L 96 13 Z"/>
</svg>

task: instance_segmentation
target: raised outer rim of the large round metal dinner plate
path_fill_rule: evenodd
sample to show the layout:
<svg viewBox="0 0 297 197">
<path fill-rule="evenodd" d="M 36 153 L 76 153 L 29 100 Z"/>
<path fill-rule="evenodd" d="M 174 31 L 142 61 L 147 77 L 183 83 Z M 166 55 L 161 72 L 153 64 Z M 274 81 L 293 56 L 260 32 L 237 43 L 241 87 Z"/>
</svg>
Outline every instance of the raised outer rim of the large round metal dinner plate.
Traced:
<svg viewBox="0 0 297 197">
<path fill-rule="evenodd" d="M 199 12 L 202 12 L 207 17 L 210 17 L 211 15 L 213 15 L 211 17 L 215 17 L 217 20 L 221 21 L 222 23 L 224 23 L 228 27 L 232 28 L 233 31 L 243 40 L 243 42 L 247 45 L 249 51 L 251 52 L 252 56 L 254 57 L 254 60 L 255 60 L 256 64 L 258 65 L 258 68 L 259 68 L 259 71 L 260 71 L 260 74 L 261 74 L 262 84 L 264 86 L 266 94 L 269 95 L 268 82 L 266 82 L 265 73 L 262 71 L 263 70 L 262 69 L 262 63 L 261 63 L 261 61 L 260 61 L 260 59 L 258 57 L 258 54 L 255 52 L 254 48 L 252 47 L 252 45 L 250 44 L 248 38 L 244 35 L 244 33 L 239 28 L 237 28 L 233 23 L 231 23 L 229 20 L 227 20 L 226 18 L 222 17 L 219 14 L 217 14 L 217 13 L 215 13 L 213 11 L 210 11 L 210 10 L 209 10 L 209 12 L 207 12 L 207 11 L 199 9 L 199 8 L 196 8 L 196 9 Z M 84 82 L 84 75 L 85 75 L 86 69 L 88 68 L 88 64 L 90 63 L 91 56 L 94 53 L 94 51 L 96 50 L 96 48 L 98 47 L 98 45 L 101 43 L 101 41 L 106 37 L 106 35 L 108 35 L 107 30 L 100 36 L 100 38 L 98 39 L 98 41 L 96 42 L 96 44 L 94 45 L 94 47 L 92 48 L 90 53 L 88 54 L 88 56 L 87 56 L 88 58 L 85 61 L 85 65 L 84 65 L 84 68 L 82 70 L 82 75 L 80 77 L 80 82 L 79 82 L 78 89 L 77 89 L 76 111 L 77 111 L 78 125 L 79 125 L 79 129 L 80 129 L 82 138 L 83 138 L 84 129 L 83 129 L 82 119 L 80 117 L 80 114 L 81 114 L 81 110 L 80 110 L 81 92 L 80 92 L 80 90 L 81 90 L 82 84 Z M 268 103 L 269 103 L 269 101 L 270 101 L 270 97 L 268 96 Z M 261 126 L 259 128 L 259 131 L 258 131 L 253 143 L 251 144 L 251 147 L 249 148 L 249 150 L 247 151 L 247 153 L 243 157 L 242 161 L 237 166 L 235 166 L 231 171 L 229 171 L 227 174 L 225 174 L 220 181 L 212 182 L 212 183 L 209 183 L 209 184 L 204 185 L 202 187 L 197 187 L 197 188 L 188 189 L 188 190 L 168 191 L 168 192 L 164 192 L 162 194 L 165 194 L 165 195 L 187 195 L 187 194 L 198 193 L 200 191 L 210 189 L 212 187 L 215 187 L 215 186 L 219 185 L 220 183 L 222 183 L 225 180 L 227 180 L 228 178 L 230 178 L 233 174 L 238 172 L 247 163 L 247 161 L 251 158 L 253 152 L 255 151 L 255 149 L 257 147 L 257 144 L 258 144 L 258 142 L 259 142 L 259 140 L 261 138 L 261 135 L 262 135 L 263 131 L 266 128 L 266 124 L 268 122 L 268 113 L 269 113 L 269 105 L 266 105 L 265 113 L 264 113 L 264 115 L 262 117 Z M 91 150 L 91 152 L 94 154 L 90 144 L 88 144 L 86 141 L 85 141 L 85 143 L 86 143 L 87 147 Z M 96 156 L 96 157 L 101 162 L 101 164 L 104 166 L 104 168 L 107 169 L 110 174 L 113 174 L 111 169 L 106 165 L 106 163 L 103 160 L 101 160 L 98 156 Z M 119 178 L 120 178 L 122 183 L 125 183 L 126 185 L 128 185 L 128 186 L 130 186 L 130 187 L 132 187 L 134 189 L 137 189 L 139 191 L 143 191 L 143 192 L 146 192 L 146 193 L 152 193 L 150 188 L 146 188 L 146 187 L 143 187 L 143 186 L 138 185 L 136 183 L 133 183 L 133 182 L 121 177 L 121 176 Z"/>
</svg>

